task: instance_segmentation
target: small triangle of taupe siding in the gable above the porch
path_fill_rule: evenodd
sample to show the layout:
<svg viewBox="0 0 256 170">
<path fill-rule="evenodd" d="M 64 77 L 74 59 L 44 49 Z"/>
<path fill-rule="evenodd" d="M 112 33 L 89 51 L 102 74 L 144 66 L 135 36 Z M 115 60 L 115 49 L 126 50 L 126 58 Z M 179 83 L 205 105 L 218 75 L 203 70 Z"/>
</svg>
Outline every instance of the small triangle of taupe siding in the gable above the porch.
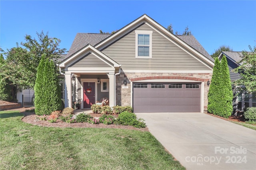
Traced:
<svg viewBox="0 0 256 170">
<path fill-rule="evenodd" d="M 88 53 L 79 61 L 72 64 L 70 67 L 110 67 L 108 64 L 100 60 L 98 57 Z"/>
</svg>

